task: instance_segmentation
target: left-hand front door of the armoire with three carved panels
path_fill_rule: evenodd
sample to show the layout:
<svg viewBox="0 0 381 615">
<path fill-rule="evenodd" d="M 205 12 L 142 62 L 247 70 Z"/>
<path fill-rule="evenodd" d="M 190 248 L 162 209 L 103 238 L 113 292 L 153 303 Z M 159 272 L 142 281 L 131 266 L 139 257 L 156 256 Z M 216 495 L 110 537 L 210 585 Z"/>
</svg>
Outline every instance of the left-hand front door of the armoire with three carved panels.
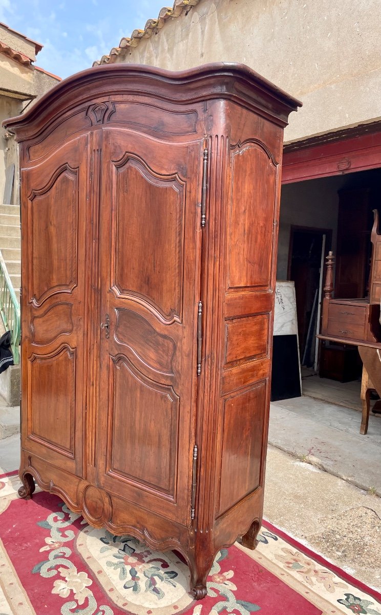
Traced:
<svg viewBox="0 0 381 615">
<path fill-rule="evenodd" d="M 81 475 L 87 135 L 22 171 L 23 447 Z"/>
</svg>

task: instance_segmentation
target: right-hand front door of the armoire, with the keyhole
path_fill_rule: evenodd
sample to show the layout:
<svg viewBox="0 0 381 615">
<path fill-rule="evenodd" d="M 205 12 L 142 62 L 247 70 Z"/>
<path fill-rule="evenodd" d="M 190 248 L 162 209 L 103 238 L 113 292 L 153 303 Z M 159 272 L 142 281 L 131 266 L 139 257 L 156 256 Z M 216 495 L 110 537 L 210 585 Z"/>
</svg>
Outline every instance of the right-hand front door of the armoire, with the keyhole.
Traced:
<svg viewBox="0 0 381 615">
<path fill-rule="evenodd" d="M 202 149 L 103 135 L 99 482 L 187 524 Z"/>
</svg>

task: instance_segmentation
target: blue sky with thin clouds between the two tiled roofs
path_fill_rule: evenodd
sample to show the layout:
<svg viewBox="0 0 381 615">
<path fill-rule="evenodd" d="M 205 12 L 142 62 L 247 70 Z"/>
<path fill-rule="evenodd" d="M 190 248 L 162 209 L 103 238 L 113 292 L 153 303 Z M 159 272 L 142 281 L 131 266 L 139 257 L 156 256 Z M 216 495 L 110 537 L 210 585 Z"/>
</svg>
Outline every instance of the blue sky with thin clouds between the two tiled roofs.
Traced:
<svg viewBox="0 0 381 615">
<path fill-rule="evenodd" d="M 172 2 L 0 0 L 0 22 L 44 45 L 36 65 L 65 78 L 92 66 Z"/>
</svg>

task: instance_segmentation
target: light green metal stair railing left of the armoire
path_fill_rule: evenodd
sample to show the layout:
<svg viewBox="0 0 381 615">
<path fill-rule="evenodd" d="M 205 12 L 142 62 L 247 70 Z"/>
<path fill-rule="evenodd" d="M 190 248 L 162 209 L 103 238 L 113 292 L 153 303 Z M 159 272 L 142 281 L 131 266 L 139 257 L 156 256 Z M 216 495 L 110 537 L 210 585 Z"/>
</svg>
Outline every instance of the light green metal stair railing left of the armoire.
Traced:
<svg viewBox="0 0 381 615">
<path fill-rule="evenodd" d="M 0 252 L 0 315 L 6 331 L 10 331 L 14 363 L 20 363 L 20 304 L 17 301 L 12 280 Z"/>
</svg>

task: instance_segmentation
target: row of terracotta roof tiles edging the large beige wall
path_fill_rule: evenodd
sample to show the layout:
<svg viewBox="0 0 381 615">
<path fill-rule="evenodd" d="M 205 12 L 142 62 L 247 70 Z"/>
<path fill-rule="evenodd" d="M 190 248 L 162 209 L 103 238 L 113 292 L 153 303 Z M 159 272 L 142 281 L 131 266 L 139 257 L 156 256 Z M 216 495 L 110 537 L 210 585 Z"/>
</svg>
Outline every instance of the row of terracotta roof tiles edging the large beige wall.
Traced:
<svg viewBox="0 0 381 615">
<path fill-rule="evenodd" d="M 124 37 L 119 43 L 119 47 L 112 47 L 109 55 L 103 55 L 100 60 L 93 62 L 93 66 L 100 66 L 101 64 L 113 64 L 116 62 L 117 57 L 122 53 L 122 50 L 129 47 L 138 46 L 139 42 L 143 38 L 149 38 L 157 30 L 160 30 L 165 25 L 165 22 L 171 17 L 179 17 L 184 10 L 190 9 L 192 6 L 196 6 L 200 0 L 175 0 L 173 7 L 163 7 L 157 19 L 149 19 L 144 27 L 144 30 L 134 30 L 130 38 Z"/>
</svg>

